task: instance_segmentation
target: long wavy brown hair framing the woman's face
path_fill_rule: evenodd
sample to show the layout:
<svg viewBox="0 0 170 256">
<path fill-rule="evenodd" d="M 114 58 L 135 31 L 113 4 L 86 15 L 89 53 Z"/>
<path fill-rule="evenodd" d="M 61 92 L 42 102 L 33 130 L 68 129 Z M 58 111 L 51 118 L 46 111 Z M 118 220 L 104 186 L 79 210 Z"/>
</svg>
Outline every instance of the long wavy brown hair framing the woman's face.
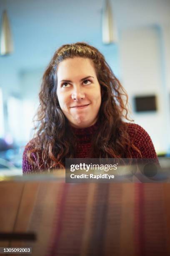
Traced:
<svg viewBox="0 0 170 256">
<path fill-rule="evenodd" d="M 40 105 L 36 114 L 34 138 L 28 143 L 28 158 L 37 169 L 60 169 L 65 158 L 74 158 L 76 137 L 62 113 L 57 98 L 57 67 L 68 58 L 82 57 L 93 61 L 101 87 L 99 125 L 92 141 L 93 158 L 132 158 L 133 150 L 140 151 L 130 141 L 127 124 L 128 95 L 115 77 L 104 56 L 95 47 L 78 42 L 65 44 L 54 54 L 43 78 L 39 93 Z M 37 162 L 32 157 L 37 154 Z"/>
</svg>

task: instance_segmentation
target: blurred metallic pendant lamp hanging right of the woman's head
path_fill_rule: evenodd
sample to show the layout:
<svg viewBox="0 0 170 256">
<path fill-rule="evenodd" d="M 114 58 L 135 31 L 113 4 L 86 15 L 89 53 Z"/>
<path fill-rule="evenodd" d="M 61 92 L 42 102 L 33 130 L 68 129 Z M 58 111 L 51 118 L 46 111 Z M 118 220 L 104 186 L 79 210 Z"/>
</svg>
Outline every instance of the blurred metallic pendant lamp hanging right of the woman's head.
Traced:
<svg viewBox="0 0 170 256">
<path fill-rule="evenodd" d="M 104 0 L 102 10 L 102 42 L 112 44 L 117 42 L 117 29 L 112 16 L 112 8 L 109 0 Z"/>
</svg>

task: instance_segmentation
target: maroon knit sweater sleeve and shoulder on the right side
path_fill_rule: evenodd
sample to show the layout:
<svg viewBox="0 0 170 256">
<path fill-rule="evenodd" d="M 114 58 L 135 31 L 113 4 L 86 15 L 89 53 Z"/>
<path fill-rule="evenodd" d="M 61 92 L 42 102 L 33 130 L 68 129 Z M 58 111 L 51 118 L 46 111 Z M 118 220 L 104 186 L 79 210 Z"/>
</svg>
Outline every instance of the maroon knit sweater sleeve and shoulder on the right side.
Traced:
<svg viewBox="0 0 170 256">
<path fill-rule="evenodd" d="M 134 146 L 140 150 L 142 158 L 158 159 L 149 134 L 140 125 L 128 123 L 128 133 Z M 135 154 L 134 158 L 141 158 L 137 153 Z"/>
</svg>

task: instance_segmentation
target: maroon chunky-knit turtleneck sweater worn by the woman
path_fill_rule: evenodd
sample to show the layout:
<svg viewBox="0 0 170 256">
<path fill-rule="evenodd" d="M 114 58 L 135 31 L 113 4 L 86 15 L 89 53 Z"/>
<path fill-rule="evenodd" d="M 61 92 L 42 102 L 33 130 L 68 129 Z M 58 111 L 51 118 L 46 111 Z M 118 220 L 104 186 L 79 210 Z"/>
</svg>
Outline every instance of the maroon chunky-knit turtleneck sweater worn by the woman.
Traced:
<svg viewBox="0 0 170 256">
<path fill-rule="evenodd" d="M 127 123 L 128 125 L 128 134 L 130 137 L 130 141 L 133 141 L 133 144 L 140 150 L 143 158 L 157 158 L 155 148 L 151 141 L 150 136 L 148 133 L 137 124 Z M 91 149 L 91 142 L 93 134 L 97 129 L 97 124 L 92 125 L 88 128 L 78 129 L 72 128 L 72 131 L 77 136 L 77 152 L 76 158 L 88 158 L 90 157 L 90 149 Z M 26 148 L 23 152 L 23 172 L 34 172 L 38 171 L 33 165 L 29 162 L 27 157 L 27 151 L 29 148 Z M 133 158 L 141 158 L 139 153 L 132 149 L 132 157 Z M 32 153 L 32 156 L 37 163 L 37 156 L 35 153 Z M 37 164 L 38 166 L 38 164 Z M 39 170 L 41 171 L 41 170 Z"/>
</svg>

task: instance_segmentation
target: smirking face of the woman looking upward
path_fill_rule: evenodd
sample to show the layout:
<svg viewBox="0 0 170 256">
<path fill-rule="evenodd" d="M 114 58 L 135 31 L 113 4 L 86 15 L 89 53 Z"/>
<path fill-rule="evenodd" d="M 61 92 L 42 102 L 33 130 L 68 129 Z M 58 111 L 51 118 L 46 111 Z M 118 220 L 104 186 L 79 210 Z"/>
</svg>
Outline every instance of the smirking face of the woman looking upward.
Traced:
<svg viewBox="0 0 170 256">
<path fill-rule="evenodd" d="M 57 97 L 71 126 L 86 128 L 95 124 L 101 92 L 92 60 L 75 57 L 59 63 Z"/>
</svg>

